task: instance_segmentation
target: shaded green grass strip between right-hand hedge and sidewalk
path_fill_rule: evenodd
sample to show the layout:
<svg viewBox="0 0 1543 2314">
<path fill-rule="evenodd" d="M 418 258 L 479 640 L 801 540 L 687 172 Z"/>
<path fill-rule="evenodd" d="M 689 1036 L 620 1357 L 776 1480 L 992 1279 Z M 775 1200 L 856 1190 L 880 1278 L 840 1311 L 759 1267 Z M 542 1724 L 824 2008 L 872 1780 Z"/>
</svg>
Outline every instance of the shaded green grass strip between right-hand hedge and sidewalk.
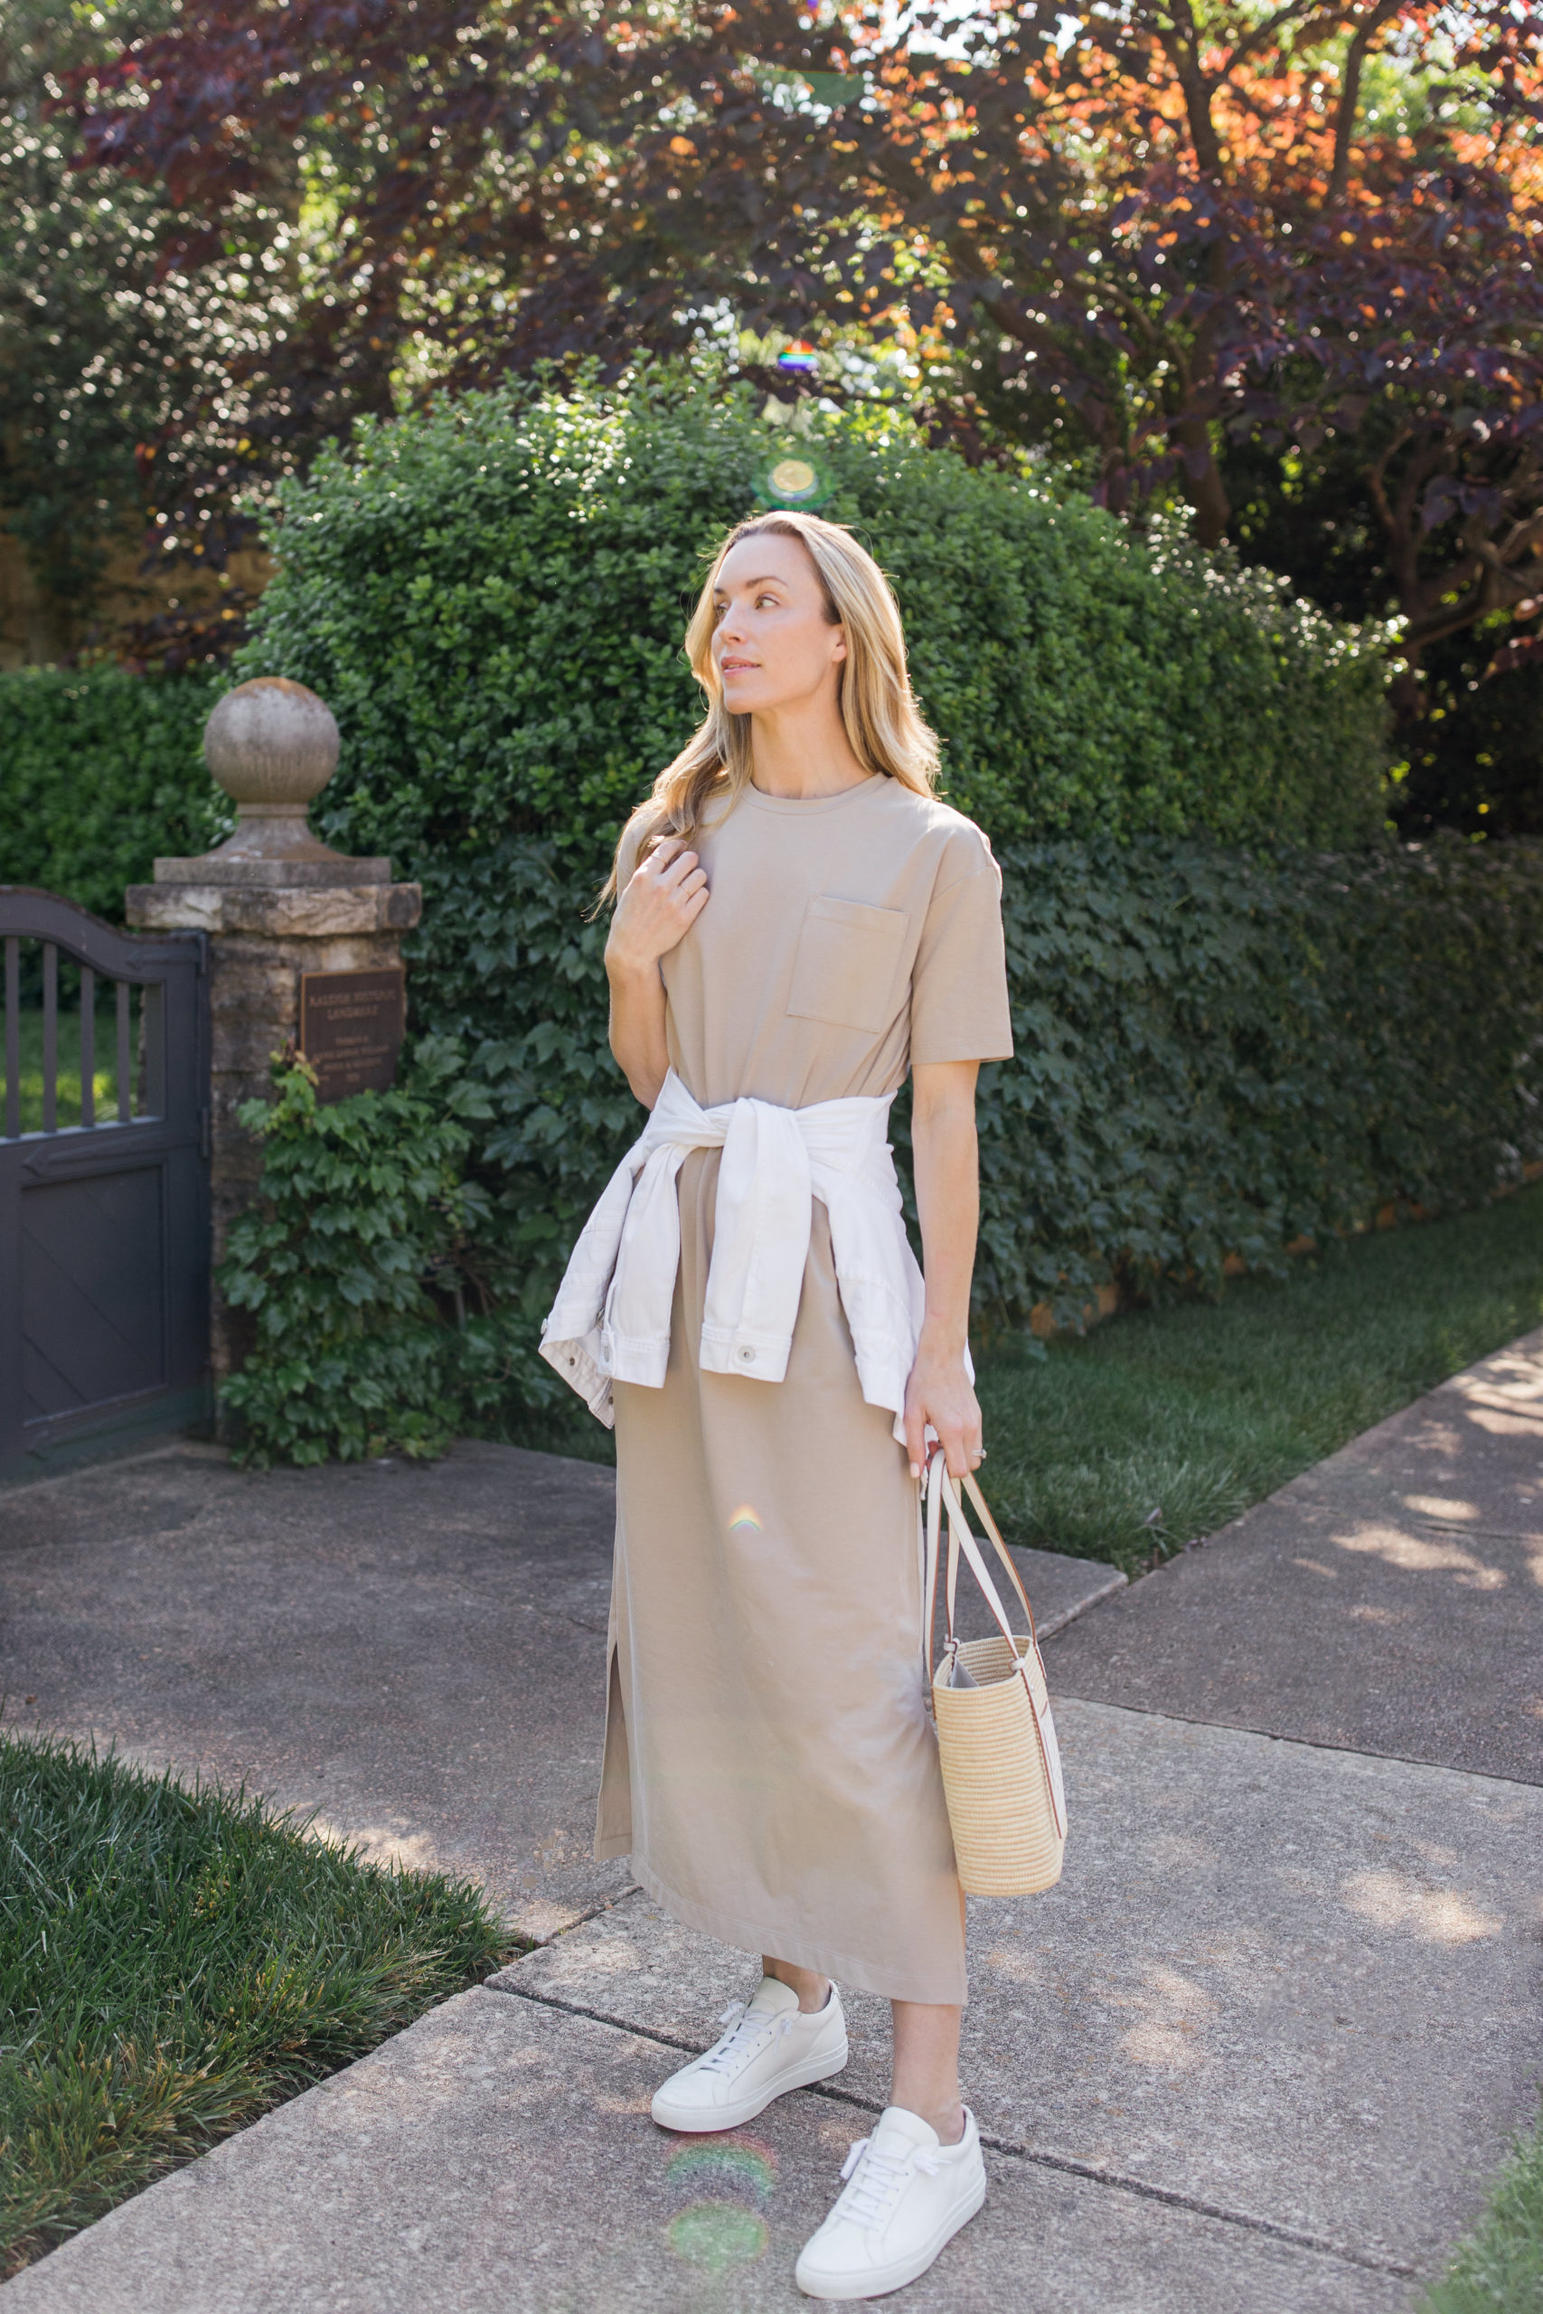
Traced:
<svg viewBox="0 0 1543 2314">
<path fill-rule="evenodd" d="M 1004 1532 L 1113 1560 L 1215 1534 L 1252 1502 L 1543 1324 L 1543 1182 L 1483 1213 L 1332 1245 L 1219 1303 L 1106 1319 L 981 1358 L 983 1483 Z"/>
</svg>

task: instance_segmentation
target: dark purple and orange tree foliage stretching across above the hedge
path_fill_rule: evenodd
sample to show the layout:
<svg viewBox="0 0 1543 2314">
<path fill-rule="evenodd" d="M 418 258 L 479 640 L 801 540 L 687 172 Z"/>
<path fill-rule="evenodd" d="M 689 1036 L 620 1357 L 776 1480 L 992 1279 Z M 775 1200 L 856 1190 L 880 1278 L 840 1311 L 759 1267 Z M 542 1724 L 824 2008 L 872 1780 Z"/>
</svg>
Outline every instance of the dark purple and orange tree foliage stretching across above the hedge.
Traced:
<svg viewBox="0 0 1543 2314">
<path fill-rule="evenodd" d="M 948 426 L 1076 442 L 1110 504 L 1173 481 L 1205 544 L 1228 440 L 1356 435 L 1411 666 L 1543 585 L 1543 83 L 1511 0 L 201 0 L 79 86 L 93 157 L 197 211 L 187 278 L 315 185 L 326 248 L 257 366 L 296 440 L 393 366 L 615 363 L 715 308 L 942 324 Z"/>
</svg>

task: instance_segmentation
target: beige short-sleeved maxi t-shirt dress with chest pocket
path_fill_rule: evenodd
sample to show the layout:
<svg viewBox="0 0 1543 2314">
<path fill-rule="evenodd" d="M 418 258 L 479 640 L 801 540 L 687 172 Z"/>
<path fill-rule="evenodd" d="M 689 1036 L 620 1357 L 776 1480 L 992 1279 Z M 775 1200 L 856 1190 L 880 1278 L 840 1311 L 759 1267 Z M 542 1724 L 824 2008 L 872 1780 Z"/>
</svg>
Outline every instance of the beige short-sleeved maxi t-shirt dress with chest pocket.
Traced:
<svg viewBox="0 0 1543 2314">
<path fill-rule="evenodd" d="M 622 845 L 622 879 L 638 838 Z M 1002 877 L 960 812 L 874 775 L 747 789 L 701 831 L 710 900 L 664 958 L 671 1062 L 703 1104 L 893 1092 L 1006 1060 Z M 863 1402 L 826 1208 L 787 1377 L 703 1375 L 717 1150 L 680 1169 L 662 1391 L 615 1384 L 615 1578 L 597 1856 L 678 1921 L 905 2002 L 965 1999 L 923 1705 L 916 1483 Z"/>
</svg>

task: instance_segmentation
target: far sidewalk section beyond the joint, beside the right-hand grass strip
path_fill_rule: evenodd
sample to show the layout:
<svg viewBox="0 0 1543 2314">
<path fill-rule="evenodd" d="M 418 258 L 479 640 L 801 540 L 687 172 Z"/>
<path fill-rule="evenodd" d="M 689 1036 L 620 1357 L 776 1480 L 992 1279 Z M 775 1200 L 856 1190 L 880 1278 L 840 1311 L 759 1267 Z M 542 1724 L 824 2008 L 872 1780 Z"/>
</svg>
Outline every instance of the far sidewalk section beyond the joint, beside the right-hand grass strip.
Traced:
<svg viewBox="0 0 1543 2314">
<path fill-rule="evenodd" d="M 1543 1784 L 1543 1331 L 1136 1583 L 1055 1687 Z"/>
</svg>

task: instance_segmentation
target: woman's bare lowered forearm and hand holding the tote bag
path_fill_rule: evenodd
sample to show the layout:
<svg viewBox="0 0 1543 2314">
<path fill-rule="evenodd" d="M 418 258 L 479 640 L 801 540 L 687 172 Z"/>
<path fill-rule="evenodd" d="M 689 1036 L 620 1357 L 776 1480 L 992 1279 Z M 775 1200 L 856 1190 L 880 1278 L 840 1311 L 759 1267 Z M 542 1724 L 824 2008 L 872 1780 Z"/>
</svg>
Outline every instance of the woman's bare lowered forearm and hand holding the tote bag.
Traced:
<svg viewBox="0 0 1543 2314">
<path fill-rule="evenodd" d="M 918 1062 L 911 1071 L 911 1155 L 921 1215 L 928 1312 L 905 1391 L 905 1444 L 911 1476 L 925 1465 L 923 1430 L 942 1439 L 948 1472 L 962 1479 L 981 1458 L 981 1407 L 965 1379 L 969 1280 L 981 1219 L 976 1152 L 976 1060 Z"/>
</svg>

